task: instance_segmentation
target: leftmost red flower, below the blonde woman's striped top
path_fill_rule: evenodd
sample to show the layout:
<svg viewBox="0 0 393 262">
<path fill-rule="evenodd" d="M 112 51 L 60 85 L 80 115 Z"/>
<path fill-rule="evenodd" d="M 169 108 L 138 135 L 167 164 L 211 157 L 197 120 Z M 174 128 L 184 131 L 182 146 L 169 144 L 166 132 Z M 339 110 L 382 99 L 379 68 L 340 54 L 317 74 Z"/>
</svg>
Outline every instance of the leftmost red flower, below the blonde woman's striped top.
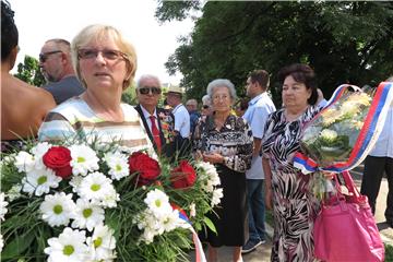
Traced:
<svg viewBox="0 0 393 262">
<path fill-rule="evenodd" d="M 71 160 L 71 151 L 64 146 L 52 146 L 43 156 L 44 165 L 61 178 L 68 178 L 72 175 Z"/>
</svg>

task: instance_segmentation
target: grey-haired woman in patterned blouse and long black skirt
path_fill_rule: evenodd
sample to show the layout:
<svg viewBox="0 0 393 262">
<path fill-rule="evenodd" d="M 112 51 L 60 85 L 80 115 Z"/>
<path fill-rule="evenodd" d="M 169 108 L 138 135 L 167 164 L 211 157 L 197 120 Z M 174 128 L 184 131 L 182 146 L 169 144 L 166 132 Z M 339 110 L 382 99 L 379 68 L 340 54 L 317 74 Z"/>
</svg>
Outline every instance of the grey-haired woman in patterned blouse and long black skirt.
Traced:
<svg viewBox="0 0 393 262">
<path fill-rule="evenodd" d="M 231 246 L 234 261 L 242 261 L 241 246 L 248 238 L 245 172 L 251 165 L 252 133 L 242 118 L 230 114 L 236 99 L 230 81 L 212 81 L 207 94 L 214 112 L 196 124 L 194 151 L 216 166 L 224 193 L 221 206 L 210 215 L 217 234 L 207 230 L 209 260 L 217 261 L 217 247 Z"/>
</svg>

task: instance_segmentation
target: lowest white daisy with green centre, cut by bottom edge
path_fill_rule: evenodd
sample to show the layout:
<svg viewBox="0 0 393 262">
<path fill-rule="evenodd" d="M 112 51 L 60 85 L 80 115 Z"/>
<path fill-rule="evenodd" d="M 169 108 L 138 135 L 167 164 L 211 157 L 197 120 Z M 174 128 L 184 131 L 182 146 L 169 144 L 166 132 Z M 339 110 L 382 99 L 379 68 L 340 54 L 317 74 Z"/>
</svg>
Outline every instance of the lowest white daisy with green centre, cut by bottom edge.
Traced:
<svg viewBox="0 0 393 262">
<path fill-rule="evenodd" d="M 57 238 L 48 239 L 48 248 L 44 252 L 49 255 L 48 262 L 86 261 L 87 246 L 84 230 L 72 230 L 66 227 Z"/>
</svg>

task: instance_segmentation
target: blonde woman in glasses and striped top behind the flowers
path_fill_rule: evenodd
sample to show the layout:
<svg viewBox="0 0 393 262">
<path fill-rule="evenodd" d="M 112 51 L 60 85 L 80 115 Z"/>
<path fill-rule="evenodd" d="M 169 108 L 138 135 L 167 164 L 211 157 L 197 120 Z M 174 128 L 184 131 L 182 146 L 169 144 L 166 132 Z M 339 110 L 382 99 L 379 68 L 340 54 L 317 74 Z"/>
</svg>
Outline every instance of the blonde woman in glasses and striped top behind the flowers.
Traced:
<svg viewBox="0 0 393 262">
<path fill-rule="evenodd" d="M 39 140 L 98 136 L 128 147 L 152 147 L 136 110 L 120 103 L 136 70 L 134 48 L 111 26 L 91 25 L 72 41 L 73 67 L 86 91 L 51 110 Z"/>
</svg>

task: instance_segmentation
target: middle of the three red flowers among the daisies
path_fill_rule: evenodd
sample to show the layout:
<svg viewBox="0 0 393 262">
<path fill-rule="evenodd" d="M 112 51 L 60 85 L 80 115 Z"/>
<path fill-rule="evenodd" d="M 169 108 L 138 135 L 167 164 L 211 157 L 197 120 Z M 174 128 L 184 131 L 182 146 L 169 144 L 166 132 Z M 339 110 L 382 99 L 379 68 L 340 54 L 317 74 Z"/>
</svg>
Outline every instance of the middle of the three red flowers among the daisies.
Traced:
<svg viewBox="0 0 393 262">
<path fill-rule="evenodd" d="M 148 184 L 160 174 L 158 162 L 148 155 L 135 152 L 129 157 L 130 172 L 139 172 L 138 186 Z"/>
</svg>

